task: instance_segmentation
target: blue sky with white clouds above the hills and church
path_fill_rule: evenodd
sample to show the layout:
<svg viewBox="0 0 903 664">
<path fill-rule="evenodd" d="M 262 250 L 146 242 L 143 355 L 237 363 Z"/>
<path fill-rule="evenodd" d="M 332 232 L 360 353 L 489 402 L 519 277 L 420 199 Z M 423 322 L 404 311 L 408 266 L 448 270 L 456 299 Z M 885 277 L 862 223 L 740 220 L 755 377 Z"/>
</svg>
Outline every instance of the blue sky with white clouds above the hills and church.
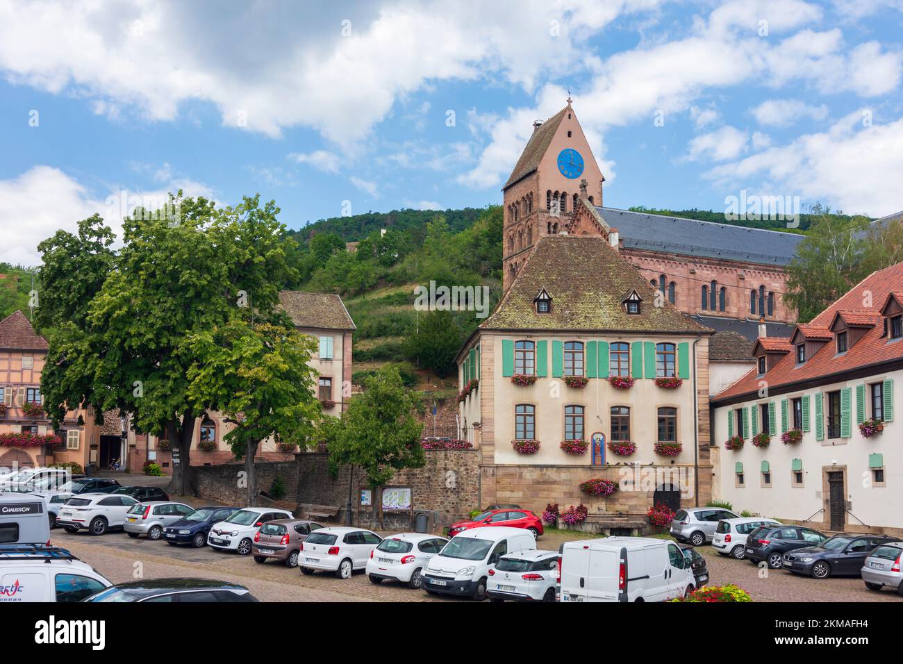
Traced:
<svg viewBox="0 0 903 664">
<path fill-rule="evenodd" d="M 605 203 L 903 210 L 903 0 L 0 0 L 0 261 L 166 192 L 289 228 L 500 203 L 573 109 Z"/>
</svg>

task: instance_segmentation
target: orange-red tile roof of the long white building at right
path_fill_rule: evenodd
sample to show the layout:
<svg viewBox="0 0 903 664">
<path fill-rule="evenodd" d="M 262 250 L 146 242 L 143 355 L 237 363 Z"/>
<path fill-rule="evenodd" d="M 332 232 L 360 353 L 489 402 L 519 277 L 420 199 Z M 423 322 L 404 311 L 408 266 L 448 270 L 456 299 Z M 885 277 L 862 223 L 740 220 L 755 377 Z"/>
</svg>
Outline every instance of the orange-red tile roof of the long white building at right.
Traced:
<svg viewBox="0 0 903 664">
<path fill-rule="evenodd" d="M 809 334 L 821 334 L 827 330 L 827 325 L 833 321 L 838 312 L 871 313 L 874 315 L 880 311 L 880 307 L 887 300 L 888 295 L 900 292 L 903 286 L 903 263 L 886 267 L 883 270 L 871 273 L 859 284 L 843 295 L 839 300 L 815 316 L 812 323 L 800 325 L 801 331 Z M 864 302 L 872 303 L 871 307 L 863 308 Z M 712 398 L 712 403 L 755 394 L 759 390 L 759 381 L 766 380 L 769 389 L 781 386 L 791 386 L 807 380 L 820 379 L 833 374 L 842 373 L 852 369 L 859 369 L 872 364 L 879 364 L 891 360 L 903 360 L 903 341 L 890 341 L 882 337 L 883 325 L 876 324 L 867 330 L 844 354 L 838 355 L 833 343 L 825 343 L 815 354 L 805 360 L 805 363 L 796 366 L 794 355 L 787 354 L 768 369 L 764 376 L 758 376 L 756 369 L 752 369 L 737 380 L 729 388 Z M 832 335 L 833 336 L 833 335 Z M 809 337 L 809 338 L 824 338 Z M 762 340 L 759 340 L 762 341 Z"/>
</svg>

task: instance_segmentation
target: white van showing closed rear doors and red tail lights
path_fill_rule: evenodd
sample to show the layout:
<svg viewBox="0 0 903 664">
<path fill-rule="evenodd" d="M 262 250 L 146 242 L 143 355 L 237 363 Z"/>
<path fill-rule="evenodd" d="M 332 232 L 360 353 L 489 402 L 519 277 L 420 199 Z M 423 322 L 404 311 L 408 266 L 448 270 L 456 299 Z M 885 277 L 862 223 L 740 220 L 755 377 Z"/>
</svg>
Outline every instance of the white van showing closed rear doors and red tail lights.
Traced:
<svg viewBox="0 0 903 664">
<path fill-rule="evenodd" d="M 558 569 L 562 602 L 665 602 L 696 587 L 690 561 L 664 539 L 566 542 Z"/>
</svg>

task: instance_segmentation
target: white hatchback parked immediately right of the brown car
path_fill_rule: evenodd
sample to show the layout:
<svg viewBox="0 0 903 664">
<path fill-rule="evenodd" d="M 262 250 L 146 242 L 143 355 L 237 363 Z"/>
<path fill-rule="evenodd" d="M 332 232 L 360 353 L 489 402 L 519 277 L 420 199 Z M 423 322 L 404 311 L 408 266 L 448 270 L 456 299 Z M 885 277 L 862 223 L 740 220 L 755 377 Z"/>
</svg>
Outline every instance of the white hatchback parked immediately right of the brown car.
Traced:
<svg viewBox="0 0 903 664">
<path fill-rule="evenodd" d="M 302 574 L 319 569 L 348 579 L 354 570 L 367 567 L 370 552 L 382 541 L 375 532 L 363 528 L 320 528 L 301 543 L 298 566 Z"/>
</svg>

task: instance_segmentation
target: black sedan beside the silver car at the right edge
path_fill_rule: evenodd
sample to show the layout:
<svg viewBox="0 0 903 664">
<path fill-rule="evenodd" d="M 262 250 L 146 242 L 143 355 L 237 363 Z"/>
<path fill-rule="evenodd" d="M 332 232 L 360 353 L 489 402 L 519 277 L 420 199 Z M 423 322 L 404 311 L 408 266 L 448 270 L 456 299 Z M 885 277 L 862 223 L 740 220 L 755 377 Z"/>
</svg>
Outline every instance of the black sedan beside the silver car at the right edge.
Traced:
<svg viewBox="0 0 903 664">
<path fill-rule="evenodd" d="M 899 538 L 889 535 L 844 533 L 827 538 L 817 547 L 797 548 L 784 555 L 784 569 L 794 574 L 815 576 L 859 576 L 871 550 Z"/>
</svg>

